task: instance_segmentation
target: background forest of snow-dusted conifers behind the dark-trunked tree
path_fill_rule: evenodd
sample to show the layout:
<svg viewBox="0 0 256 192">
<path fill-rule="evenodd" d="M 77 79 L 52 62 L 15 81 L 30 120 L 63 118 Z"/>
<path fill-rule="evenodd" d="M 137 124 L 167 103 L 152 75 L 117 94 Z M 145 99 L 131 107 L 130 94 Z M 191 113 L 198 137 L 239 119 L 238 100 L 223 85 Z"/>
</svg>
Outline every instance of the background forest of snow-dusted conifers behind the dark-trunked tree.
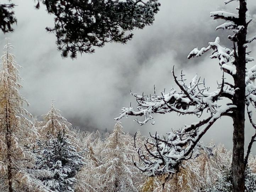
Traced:
<svg viewBox="0 0 256 192">
<path fill-rule="evenodd" d="M 2 192 L 221 192 L 232 191 L 232 152 L 224 146 L 199 154 L 168 177 L 149 177 L 136 166 L 153 155 L 154 139 L 124 132 L 117 122 L 111 133 L 73 128 L 54 107 L 33 119 L 19 92 L 19 66 L 6 43 L 0 68 L 0 191 Z M 142 146 L 146 148 L 141 148 Z M 136 165 L 136 166 L 135 166 Z M 249 156 L 246 191 L 255 191 L 256 157 Z"/>
</svg>

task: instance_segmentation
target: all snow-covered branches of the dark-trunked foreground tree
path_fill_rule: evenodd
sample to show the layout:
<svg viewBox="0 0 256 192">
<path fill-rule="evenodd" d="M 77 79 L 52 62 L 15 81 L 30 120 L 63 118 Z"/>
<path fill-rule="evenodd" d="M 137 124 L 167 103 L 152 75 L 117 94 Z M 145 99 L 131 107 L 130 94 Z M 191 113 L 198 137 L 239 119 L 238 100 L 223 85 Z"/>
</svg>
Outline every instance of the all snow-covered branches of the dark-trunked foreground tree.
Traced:
<svg viewBox="0 0 256 192">
<path fill-rule="evenodd" d="M 232 1 L 227 0 L 225 3 L 228 4 Z M 239 37 L 247 32 L 247 24 L 251 20 L 241 24 L 237 14 L 224 11 L 211 12 L 210 15 L 214 19 L 227 21 L 216 27 L 216 30 L 233 30 L 234 34 L 228 36 L 228 39 L 233 41 L 233 47 L 231 47 L 233 50 L 221 46 L 220 39 L 217 37 L 215 41 L 209 42 L 207 47 L 193 49 L 189 53 L 188 59 L 200 57 L 207 51 L 212 50 L 210 58 L 217 58 L 219 66 L 223 70 L 222 83 L 218 84 L 217 90 L 210 92 L 209 88 L 205 86 L 205 82 L 197 78 L 197 75 L 187 83 L 184 74 L 181 72 L 180 78 L 178 78 L 173 69 L 172 74 L 178 89 L 172 87 L 167 93 L 163 91 L 157 95 L 154 92 L 154 95 L 150 96 L 131 92 L 131 95 L 137 100 L 137 110 L 131 106 L 123 107 L 119 117 L 115 118 L 115 120 L 120 120 L 123 117 L 127 118 L 129 115 L 141 116 L 144 117 L 143 120 L 135 119 L 135 121 L 140 125 L 144 125 L 149 121 L 154 124 L 153 114 L 155 113 L 176 112 L 178 115 L 191 114 L 196 117 L 201 117 L 202 114 L 204 116 L 207 115 L 199 122 L 184 125 L 179 130 L 172 130 L 167 136 L 158 135 L 157 132 L 154 135 L 150 135 L 151 138 L 144 145 L 146 151 L 143 152 L 141 148 L 137 150 L 141 160 L 140 164 L 135 163 L 148 176 L 175 174 L 182 166 L 183 160 L 197 157 L 202 151 L 211 155 L 212 148 L 200 143 L 201 137 L 205 135 L 216 120 L 223 116 L 229 116 L 234 119 L 233 113 L 239 110 L 234 103 L 239 103 L 240 100 L 237 102 L 237 97 L 234 95 L 236 94 L 237 96 L 237 93 L 243 87 L 238 87 L 239 85 L 236 81 L 227 81 L 224 78 L 224 72 L 231 75 L 233 80 L 239 80 L 240 76 L 236 73 L 237 69 L 239 72 L 241 68 L 241 56 L 239 55 L 241 50 L 245 50 L 245 63 L 254 61 L 254 58 L 247 56 L 250 52 L 246 52 L 246 48 L 247 43 L 251 43 L 256 37 L 247 41 L 244 39 L 242 43 L 239 40 Z M 256 124 L 252 122 L 252 111 L 249 110 L 250 106 L 256 108 L 256 86 L 254 85 L 256 66 L 250 69 L 247 68 L 245 76 L 247 114 L 252 126 L 256 128 Z M 230 102 L 220 106 L 218 101 L 222 98 L 228 98 Z M 251 143 L 254 141 L 256 141 L 256 134 L 252 137 Z M 250 146 L 248 152 L 250 152 Z"/>
</svg>

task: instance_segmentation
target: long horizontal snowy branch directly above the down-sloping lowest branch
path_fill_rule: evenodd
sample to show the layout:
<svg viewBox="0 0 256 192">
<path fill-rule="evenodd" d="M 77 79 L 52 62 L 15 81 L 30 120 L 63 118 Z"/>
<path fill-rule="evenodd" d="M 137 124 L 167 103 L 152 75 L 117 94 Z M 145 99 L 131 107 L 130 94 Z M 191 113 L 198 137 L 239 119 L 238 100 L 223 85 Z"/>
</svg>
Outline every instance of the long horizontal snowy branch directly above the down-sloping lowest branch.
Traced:
<svg viewBox="0 0 256 192">
<path fill-rule="evenodd" d="M 180 91 L 178 92 L 173 87 L 168 93 L 161 92 L 161 95 L 154 93 L 153 96 L 137 95 L 131 92 L 137 100 L 137 111 L 133 107 L 123 107 L 119 117 L 115 120 L 120 120 L 123 117 L 132 116 L 144 116 L 143 121 L 135 119 L 140 125 L 144 125 L 150 120 L 153 120 L 152 114 L 154 113 L 169 113 L 177 112 L 178 114 L 195 114 L 200 117 L 204 111 L 215 114 L 219 108 L 216 101 L 219 97 L 232 98 L 232 92 L 227 91 L 228 85 L 224 85 L 224 77 L 222 83 L 219 85 L 218 90 L 214 92 L 208 92 L 208 88 L 205 86 L 204 81 L 200 81 L 197 75 L 190 81 L 189 84 L 185 84 L 184 74 L 181 72 L 180 79 L 174 74 L 174 68 L 172 71 L 175 83 L 178 85 Z M 225 90 L 224 90 L 225 87 Z"/>
</svg>

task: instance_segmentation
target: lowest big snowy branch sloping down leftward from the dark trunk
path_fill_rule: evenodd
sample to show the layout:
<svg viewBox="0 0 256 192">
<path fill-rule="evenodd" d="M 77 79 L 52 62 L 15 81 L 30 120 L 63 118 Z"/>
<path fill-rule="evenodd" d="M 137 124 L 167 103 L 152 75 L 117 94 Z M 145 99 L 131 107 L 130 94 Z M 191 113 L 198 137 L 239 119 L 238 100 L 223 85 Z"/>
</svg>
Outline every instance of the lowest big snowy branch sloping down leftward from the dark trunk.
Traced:
<svg viewBox="0 0 256 192">
<path fill-rule="evenodd" d="M 157 133 L 150 135 L 145 144 L 147 155 L 138 149 L 141 164 L 135 165 L 148 176 L 174 174 L 179 171 L 183 160 L 197 157 L 201 151 L 212 155 L 212 147 L 206 147 L 199 142 L 211 125 L 223 115 L 232 111 L 236 106 L 230 105 L 214 115 L 200 122 L 185 125 L 178 131 L 168 133 L 168 136 L 160 136 Z M 201 128 L 201 129 L 200 129 Z"/>
</svg>

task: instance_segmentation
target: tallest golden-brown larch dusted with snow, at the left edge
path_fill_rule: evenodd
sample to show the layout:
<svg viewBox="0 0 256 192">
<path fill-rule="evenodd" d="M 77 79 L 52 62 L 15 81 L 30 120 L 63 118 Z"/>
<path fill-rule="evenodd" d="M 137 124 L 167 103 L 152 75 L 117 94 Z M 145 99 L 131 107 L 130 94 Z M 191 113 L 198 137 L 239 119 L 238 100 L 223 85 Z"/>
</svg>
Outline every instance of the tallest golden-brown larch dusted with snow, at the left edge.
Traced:
<svg viewBox="0 0 256 192">
<path fill-rule="evenodd" d="M 7 41 L 0 68 L 0 191 L 45 191 L 42 183 L 29 174 L 34 165 L 29 146 L 38 133 L 30 120 L 32 115 L 23 108 L 28 101 L 19 92 L 21 66 L 11 53 L 12 47 Z"/>
</svg>

